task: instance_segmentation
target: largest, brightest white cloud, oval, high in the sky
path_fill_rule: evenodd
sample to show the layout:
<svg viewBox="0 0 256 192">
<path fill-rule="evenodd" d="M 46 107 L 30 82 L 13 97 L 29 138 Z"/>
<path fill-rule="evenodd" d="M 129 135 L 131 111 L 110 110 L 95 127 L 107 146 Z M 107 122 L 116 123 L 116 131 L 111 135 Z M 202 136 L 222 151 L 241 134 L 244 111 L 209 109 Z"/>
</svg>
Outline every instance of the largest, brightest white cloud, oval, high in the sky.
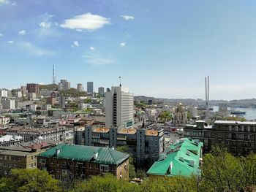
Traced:
<svg viewBox="0 0 256 192">
<path fill-rule="evenodd" d="M 91 12 L 88 12 L 86 14 L 76 15 L 74 18 L 65 20 L 65 22 L 61 24 L 61 27 L 75 29 L 77 31 L 94 31 L 109 23 L 110 20 L 108 20 L 108 18 L 104 18 L 100 15 L 92 15 Z"/>
</svg>

